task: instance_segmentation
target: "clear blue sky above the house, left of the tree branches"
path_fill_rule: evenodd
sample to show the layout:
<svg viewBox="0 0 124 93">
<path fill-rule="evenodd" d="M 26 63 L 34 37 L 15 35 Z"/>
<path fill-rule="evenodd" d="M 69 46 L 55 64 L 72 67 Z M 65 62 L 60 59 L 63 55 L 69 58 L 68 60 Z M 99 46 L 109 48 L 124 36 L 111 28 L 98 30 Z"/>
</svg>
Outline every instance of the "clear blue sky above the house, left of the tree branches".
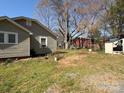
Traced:
<svg viewBox="0 0 124 93">
<path fill-rule="evenodd" d="M 34 17 L 39 0 L 0 0 L 0 16 Z"/>
</svg>

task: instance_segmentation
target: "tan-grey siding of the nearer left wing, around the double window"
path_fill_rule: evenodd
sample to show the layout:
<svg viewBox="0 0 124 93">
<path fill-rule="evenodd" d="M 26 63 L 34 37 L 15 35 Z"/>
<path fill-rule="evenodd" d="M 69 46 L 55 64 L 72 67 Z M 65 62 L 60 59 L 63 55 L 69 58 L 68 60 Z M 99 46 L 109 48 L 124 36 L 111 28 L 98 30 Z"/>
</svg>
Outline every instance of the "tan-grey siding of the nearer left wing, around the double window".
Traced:
<svg viewBox="0 0 124 93">
<path fill-rule="evenodd" d="M 30 35 L 7 20 L 0 21 L 0 31 L 18 33 L 18 44 L 0 44 L 0 58 L 30 56 Z"/>
</svg>

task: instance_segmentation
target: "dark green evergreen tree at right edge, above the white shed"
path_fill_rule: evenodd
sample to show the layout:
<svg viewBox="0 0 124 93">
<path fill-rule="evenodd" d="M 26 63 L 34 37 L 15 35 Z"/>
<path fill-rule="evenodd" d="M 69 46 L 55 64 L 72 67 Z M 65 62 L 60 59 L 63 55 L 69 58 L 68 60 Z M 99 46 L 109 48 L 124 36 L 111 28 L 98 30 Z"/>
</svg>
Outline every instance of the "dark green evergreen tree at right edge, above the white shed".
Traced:
<svg viewBox="0 0 124 93">
<path fill-rule="evenodd" d="M 109 14 L 110 26 L 113 31 L 113 36 L 124 33 L 124 1 L 117 0 L 111 7 Z"/>
</svg>

